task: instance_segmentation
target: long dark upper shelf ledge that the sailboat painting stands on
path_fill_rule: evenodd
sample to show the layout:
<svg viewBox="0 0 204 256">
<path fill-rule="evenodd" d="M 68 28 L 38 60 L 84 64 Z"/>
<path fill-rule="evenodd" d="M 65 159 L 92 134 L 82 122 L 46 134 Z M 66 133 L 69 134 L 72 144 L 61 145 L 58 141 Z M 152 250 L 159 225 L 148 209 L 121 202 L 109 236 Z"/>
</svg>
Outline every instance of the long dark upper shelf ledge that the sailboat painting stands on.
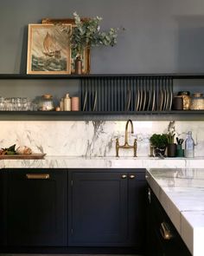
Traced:
<svg viewBox="0 0 204 256">
<path fill-rule="evenodd" d="M 0 74 L 0 79 L 86 79 L 114 77 L 169 77 L 173 79 L 204 79 L 204 73 L 158 73 L 158 74 L 87 74 L 87 75 L 27 75 Z"/>
</svg>

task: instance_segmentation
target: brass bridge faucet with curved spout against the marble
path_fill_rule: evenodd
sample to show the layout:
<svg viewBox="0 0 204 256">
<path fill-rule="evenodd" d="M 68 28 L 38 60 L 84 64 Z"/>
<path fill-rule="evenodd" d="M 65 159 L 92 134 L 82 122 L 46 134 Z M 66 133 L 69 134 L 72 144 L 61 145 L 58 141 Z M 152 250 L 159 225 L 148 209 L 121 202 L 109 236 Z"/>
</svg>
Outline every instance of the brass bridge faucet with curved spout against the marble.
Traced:
<svg viewBox="0 0 204 256">
<path fill-rule="evenodd" d="M 119 145 L 119 139 L 118 138 L 116 139 L 116 156 L 117 157 L 119 156 L 119 148 L 133 148 L 134 157 L 137 157 L 137 139 L 134 140 L 134 145 L 131 146 L 131 145 L 128 144 L 128 125 L 129 125 L 129 122 L 131 123 L 131 134 L 134 134 L 133 123 L 132 123 L 131 119 L 129 119 L 126 122 L 126 125 L 125 125 L 124 145 L 120 146 Z"/>
</svg>

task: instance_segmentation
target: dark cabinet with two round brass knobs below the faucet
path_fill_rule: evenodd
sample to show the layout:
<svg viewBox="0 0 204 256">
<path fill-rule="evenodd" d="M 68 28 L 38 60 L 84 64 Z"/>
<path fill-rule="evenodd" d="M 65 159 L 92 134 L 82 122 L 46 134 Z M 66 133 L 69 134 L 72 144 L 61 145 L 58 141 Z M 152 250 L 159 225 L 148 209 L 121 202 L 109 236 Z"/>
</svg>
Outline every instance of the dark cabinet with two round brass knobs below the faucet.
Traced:
<svg viewBox="0 0 204 256">
<path fill-rule="evenodd" d="M 144 169 L 74 169 L 69 175 L 69 246 L 143 248 Z"/>
</svg>

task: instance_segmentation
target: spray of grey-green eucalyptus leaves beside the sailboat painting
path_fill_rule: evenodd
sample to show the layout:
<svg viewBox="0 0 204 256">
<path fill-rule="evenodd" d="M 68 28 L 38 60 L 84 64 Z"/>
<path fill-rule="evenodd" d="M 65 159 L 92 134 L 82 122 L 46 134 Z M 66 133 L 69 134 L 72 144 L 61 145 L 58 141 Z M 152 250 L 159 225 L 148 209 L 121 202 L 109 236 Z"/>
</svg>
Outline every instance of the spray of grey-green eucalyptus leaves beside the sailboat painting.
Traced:
<svg viewBox="0 0 204 256">
<path fill-rule="evenodd" d="M 86 48 L 99 45 L 113 46 L 117 43 L 118 29 L 111 28 L 107 32 L 100 31 L 101 17 L 96 16 L 81 22 L 80 16 L 76 12 L 73 13 L 73 16 L 76 27 L 73 28 L 70 42 L 72 49 L 79 54 L 82 54 Z"/>
</svg>

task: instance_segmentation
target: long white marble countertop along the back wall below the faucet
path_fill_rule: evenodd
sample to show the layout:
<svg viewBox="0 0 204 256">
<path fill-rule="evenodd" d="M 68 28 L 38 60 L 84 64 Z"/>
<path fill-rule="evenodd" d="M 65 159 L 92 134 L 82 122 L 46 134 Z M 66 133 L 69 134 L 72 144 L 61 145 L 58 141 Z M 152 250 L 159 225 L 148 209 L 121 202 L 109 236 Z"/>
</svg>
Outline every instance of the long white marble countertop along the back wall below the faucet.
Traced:
<svg viewBox="0 0 204 256">
<path fill-rule="evenodd" d="M 201 168 L 204 157 L 193 159 L 156 157 L 83 157 L 83 156 L 45 156 L 41 160 L 0 160 L 0 168 Z"/>
</svg>

